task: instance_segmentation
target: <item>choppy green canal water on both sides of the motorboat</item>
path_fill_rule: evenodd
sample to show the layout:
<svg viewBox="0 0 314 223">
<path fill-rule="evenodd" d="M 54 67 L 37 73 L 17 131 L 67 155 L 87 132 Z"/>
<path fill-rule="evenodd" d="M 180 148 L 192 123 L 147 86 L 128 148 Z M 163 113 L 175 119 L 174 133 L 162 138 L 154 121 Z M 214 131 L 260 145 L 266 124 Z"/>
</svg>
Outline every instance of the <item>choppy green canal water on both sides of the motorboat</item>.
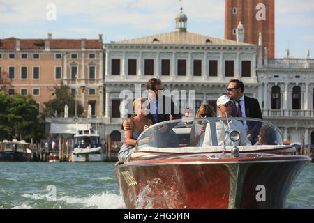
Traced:
<svg viewBox="0 0 314 223">
<path fill-rule="evenodd" d="M 0 162 L 0 209 L 124 208 L 114 163 Z M 314 208 L 314 165 L 306 166 L 287 208 Z"/>
</svg>

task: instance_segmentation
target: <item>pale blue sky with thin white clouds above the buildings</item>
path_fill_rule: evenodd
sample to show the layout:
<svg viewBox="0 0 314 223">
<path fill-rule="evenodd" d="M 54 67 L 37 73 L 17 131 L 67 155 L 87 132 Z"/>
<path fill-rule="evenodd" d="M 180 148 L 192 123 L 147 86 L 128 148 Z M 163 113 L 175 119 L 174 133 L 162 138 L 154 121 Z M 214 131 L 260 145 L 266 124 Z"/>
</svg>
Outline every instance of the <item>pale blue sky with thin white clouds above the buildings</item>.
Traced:
<svg viewBox="0 0 314 223">
<path fill-rule="evenodd" d="M 57 20 L 47 20 L 47 6 Z M 98 38 L 105 43 L 174 31 L 179 0 L 0 0 L 0 38 Z M 184 0 L 188 31 L 224 37 L 225 1 Z M 276 0 L 276 57 L 314 58 L 314 1 Z"/>
</svg>

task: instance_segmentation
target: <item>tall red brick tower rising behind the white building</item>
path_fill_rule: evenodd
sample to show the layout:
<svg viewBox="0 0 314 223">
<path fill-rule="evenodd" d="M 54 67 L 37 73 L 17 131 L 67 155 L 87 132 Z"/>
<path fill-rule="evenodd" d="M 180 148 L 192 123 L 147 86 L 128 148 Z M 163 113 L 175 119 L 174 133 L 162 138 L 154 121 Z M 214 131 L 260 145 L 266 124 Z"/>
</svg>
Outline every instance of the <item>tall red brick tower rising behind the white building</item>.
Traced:
<svg viewBox="0 0 314 223">
<path fill-rule="evenodd" d="M 244 43 L 267 47 L 269 59 L 275 57 L 275 0 L 225 0 L 225 39 L 237 40 L 237 26 L 244 26 Z"/>
</svg>

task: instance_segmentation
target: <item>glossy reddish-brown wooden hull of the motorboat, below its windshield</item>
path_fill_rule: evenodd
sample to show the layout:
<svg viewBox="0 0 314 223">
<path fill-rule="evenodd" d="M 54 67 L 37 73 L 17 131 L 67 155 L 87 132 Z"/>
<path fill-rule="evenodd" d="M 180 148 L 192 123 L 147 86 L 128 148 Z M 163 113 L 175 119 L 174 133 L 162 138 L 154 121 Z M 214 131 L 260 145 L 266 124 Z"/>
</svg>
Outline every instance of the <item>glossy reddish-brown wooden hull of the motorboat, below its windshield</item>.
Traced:
<svg viewBox="0 0 314 223">
<path fill-rule="evenodd" d="M 285 208 L 292 183 L 310 159 L 259 156 L 139 160 L 121 164 L 114 174 L 126 208 Z"/>
</svg>

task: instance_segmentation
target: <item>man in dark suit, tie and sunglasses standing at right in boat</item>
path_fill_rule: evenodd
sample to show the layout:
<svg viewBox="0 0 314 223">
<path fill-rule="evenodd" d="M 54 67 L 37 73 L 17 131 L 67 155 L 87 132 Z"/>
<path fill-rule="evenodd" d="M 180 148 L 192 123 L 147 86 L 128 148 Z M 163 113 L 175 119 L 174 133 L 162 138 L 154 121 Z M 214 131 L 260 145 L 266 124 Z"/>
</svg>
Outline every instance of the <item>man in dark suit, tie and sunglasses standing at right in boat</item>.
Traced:
<svg viewBox="0 0 314 223">
<path fill-rule="evenodd" d="M 231 115 L 233 117 L 259 118 L 262 119 L 260 103 L 255 98 L 244 95 L 244 84 L 238 79 L 230 80 L 227 87 L 227 95 L 234 101 Z M 254 144 L 261 128 L 260 123 L 254 121 L 242 121 L 247 132 L 248 139 Z"/>
</svg>

